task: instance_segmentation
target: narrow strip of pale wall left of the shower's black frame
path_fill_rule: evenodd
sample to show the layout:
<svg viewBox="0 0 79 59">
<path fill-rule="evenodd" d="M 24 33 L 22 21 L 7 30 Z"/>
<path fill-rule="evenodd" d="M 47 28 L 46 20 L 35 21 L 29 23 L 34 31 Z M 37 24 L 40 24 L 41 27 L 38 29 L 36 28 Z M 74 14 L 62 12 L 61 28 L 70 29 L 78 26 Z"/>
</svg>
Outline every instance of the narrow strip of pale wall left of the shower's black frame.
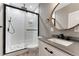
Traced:
<svg viewBox="0 0 79 59">
<path fill-rule="evenodd" d="M 3 26 L 3 4 L 0 3 L 0 26 Z M 0 28 L 0 55 L 3 54 L 3 28 Z"/>
</svg>

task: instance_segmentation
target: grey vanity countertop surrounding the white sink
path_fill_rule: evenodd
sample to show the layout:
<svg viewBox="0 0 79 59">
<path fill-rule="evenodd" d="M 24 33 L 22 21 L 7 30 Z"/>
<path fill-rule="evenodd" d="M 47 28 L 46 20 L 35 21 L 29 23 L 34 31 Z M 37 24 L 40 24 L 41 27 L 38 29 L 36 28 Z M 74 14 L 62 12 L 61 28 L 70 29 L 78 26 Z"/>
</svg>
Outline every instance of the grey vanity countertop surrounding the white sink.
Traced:
<svg viewBox="0 0 79 59">
<path fill-rule="evenodd" d="M 54 37 L 52 37 L 53 39 Z M 50 38 L 47 38 L 47 37 L 43 37 L 43 38 L 39 38 L 39 40 L 51 45 L 51 46 L 54 46 L 72 56 L 79 56 L 79 41 L 73 41 L 73 43 L 69 46 L 64 46 L 64 45 L 61 45 L 61 44 L 57 44 L 55 42 L 51 42 L 49 41 L 48 39 Z"/>
</svg>

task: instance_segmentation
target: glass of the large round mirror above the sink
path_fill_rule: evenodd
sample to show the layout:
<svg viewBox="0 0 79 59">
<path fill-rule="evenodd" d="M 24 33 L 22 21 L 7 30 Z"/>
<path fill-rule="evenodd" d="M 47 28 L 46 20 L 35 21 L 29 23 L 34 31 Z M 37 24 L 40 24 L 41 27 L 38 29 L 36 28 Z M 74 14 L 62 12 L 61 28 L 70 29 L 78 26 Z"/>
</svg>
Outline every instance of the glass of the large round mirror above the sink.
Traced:
<svg viewBox="0 0 79 59">
<path fill-rule="evenodd" d="M 55 27 L 79 32 L 79 3 L 60 3 L 53 15 Z"/>
</svg>

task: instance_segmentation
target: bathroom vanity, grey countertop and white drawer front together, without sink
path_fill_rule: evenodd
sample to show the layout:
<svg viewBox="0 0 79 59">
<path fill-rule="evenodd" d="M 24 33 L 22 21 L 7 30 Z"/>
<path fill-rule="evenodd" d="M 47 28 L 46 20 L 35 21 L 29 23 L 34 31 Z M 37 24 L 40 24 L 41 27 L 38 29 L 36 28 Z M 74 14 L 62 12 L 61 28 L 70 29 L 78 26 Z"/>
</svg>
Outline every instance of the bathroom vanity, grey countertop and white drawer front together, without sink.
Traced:
<svg viewBox="0 0 79 59">
<path fill-rule="evenodd" d="M 39 56 L 78 56 L 79 42 L 70 41 L 70 45 L 62 45 L 48 40 L 49 38 L 39 39 Z M 55 38 L 52 38 L 55 39 Z M 62 39 L 58 39 L 62 40 Z M 66 40 L 67 41 L 67 40 Z"/>
</svg>

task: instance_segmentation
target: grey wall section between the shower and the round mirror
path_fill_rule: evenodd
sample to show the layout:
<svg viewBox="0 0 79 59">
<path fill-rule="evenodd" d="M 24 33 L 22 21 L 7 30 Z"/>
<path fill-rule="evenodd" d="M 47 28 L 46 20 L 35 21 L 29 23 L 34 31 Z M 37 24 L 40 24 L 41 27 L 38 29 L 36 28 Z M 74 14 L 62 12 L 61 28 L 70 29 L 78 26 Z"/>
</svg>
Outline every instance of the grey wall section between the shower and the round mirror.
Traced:
<svg viewBox="0 0 79 59">
<path fill-rule="evenodd" d="M 45 37 L 51 36 L 51 27 L 48 24 L 47 18 L 49 18 L 53 7 L 56 4 L 54 3 L 41 3 L 40 4 L 40 35 Z"/>
</svg>

